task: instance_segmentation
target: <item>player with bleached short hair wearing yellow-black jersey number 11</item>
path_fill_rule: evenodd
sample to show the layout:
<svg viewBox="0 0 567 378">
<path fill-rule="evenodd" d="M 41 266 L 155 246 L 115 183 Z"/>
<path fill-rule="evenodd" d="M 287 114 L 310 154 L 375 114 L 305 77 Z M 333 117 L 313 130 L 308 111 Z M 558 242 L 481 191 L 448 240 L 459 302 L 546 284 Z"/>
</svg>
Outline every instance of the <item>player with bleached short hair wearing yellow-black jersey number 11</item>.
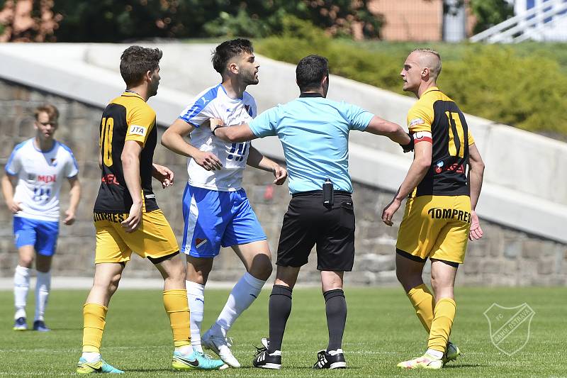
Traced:
<svg viewBox="0 0 567 378">
<path fill-rule="evenodd" d="M 396 243 L 396 275 L 429 334 L 425 355 L 398 364 L 409 369 L 439 369 L 459 356 L 459 348 L 449 343 L 455 276 L 464 262 L 467 238 L 483 234 L 474 211 L 483 160 L 463 113 L 437 88 L 440 72 L 441 57 L 434 50 L 414 50 L 405 60 L 403 90 L 419 99 L 408 113 L 415 157 L 382 213 L 382 221 L 392 226 L 395 211 L 408 197 Z M 422 279 L 428 257 L 433 294 Z"/>
</svg>

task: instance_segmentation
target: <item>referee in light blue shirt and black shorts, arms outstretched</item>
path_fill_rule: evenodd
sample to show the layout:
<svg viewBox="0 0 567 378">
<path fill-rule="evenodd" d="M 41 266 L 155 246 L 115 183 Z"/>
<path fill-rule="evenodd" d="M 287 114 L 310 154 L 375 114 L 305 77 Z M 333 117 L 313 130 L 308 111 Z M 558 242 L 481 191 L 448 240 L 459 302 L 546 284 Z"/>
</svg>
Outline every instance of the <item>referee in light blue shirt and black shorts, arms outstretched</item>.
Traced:
<svg viewBox="0 0 567 378">
<path fill-rule="evenodd" d="M 317 245 L 327 311 L 329 344 L 318 352 L 315 369 L 347 367 L 341 349 L 347 302 L 342 291 L 344 272 L 354 263 L 354 207 L 349 176 L 349 132 L 386 135 L 404 150 L 412 140 L 395 123 L 345 102 L 326 99 L 329 89 L 327 59 L 304 57 L 296 68 L 298 99 L 271 108 L 249 124 L 223 127 L 210 121 L 213 134 L 227 142 L 243 142 L 277 135 L 286 157 L 291 201 L 283 217 L 276 261 L 276 282 L 269 301 L 269 339 L 254 357 L 255 367 L 281 367 L 281 340 L 291 313 L 291 292 L 299 269 Z M 323 184 L 333 191 L 323 190 Z M 325 203 L 324 203 L 325 201 Z"/>
</svg>

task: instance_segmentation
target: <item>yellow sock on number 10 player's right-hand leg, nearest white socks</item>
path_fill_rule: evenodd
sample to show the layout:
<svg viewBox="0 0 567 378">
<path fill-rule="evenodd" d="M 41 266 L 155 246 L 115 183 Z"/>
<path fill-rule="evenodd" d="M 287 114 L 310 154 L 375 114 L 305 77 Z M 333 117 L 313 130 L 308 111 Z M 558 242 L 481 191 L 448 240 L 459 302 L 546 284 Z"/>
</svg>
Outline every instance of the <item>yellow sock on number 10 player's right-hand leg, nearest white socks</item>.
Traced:
<svg viewBox="0 0 567 378">
<path fill-rule="evenodd" d="M 164 307 L 172 325 L 173 342 L 176 348 L 191 345 L 189 330 L 189 304 L 186 290 L 164 290 Z"/>
</svg>

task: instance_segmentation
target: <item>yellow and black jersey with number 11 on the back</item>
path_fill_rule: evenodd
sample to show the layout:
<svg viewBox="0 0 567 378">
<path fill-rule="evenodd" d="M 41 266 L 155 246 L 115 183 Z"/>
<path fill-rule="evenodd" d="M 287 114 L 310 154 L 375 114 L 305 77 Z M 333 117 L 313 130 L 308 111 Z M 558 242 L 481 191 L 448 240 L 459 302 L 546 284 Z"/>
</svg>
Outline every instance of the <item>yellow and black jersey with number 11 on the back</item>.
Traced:
<svg viewBox="0 0 567 378">
<path fill-rule="evenodd" d="M 433 144 L 431 167 L 412 196 L 470 195 L 466 166 L 474 139 L 454 101 L 437 87 L 427 89 L 408 112 L 408 128 L 415 143 Z"/>
</svg>

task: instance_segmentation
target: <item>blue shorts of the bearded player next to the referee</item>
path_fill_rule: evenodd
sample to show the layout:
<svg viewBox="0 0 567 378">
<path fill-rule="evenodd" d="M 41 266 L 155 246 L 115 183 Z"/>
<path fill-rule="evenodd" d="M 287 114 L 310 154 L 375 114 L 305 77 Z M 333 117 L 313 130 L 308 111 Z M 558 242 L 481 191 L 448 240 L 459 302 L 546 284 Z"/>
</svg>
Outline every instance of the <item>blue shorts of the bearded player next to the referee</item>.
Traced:
<svg viewBox="0 0 567 378">
<path fill-rule="evenodd" d="M 266 240 L 244 189 L 216 191 L 187 184 L 183 218 L 181 252 L 193 257 L 215 257 L 221 245 L 230 247 Z"/>
</svg>

